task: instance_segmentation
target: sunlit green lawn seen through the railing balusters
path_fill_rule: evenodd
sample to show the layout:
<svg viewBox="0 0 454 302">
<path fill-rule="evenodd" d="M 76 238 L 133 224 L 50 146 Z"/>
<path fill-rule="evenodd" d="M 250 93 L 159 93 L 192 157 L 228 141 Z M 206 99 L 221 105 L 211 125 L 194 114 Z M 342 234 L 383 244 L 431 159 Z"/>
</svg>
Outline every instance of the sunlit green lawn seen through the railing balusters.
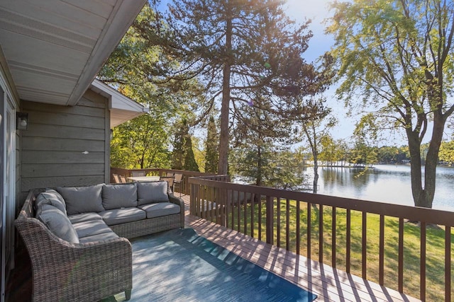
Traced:
<svg viewBox="0 0 454 302">
<path fill-rule="evenodd" d="M 280 240 L 277 242 L 277 207 L 280 207 Z M 259 212 L 260 208 L 260 212 Z M 287 245 L 287 208 L 289 210 L 289 243 Z M 311 208 L 311 250 L 307 250 L 308 211 L 305 202 L 300 203 L 300 250 L 299 254 L 319 260 L 319 219 L 320 209 Z M 297 202 L 274 200 L 274 233 L 273 243 L 292 252 L 297 252 Z M 236 231 L 246 233 L 260 240 L 266 240 L 266 207 L 255 204 L 242 205 L 238 216 L 238 207 L 233 208 L 233 214 L 228 216 L 228 226 Z M 346 234 L 347 211 L 336 209 L 336 268 L 346 271 Z M 260 215 L 259 215 L 260 213 Z M 362 277 L 362 212 L 351 211 L 351 261 L 350 273 Z M 233 219 L 233 227 L 232 227 Z M 333 208 L 323 207 L 323 262 L 332 264 L 332 223 Z M 259 232 L 261 222 L 261 232 Z M 238 228 L 239 224 L 239 228 Z M 367 279 L 379 282 L 379 249 L 380 249 L 380 216 L 367 214 Z M 420 292 L 420 231 L 414 223 L 404 223 L 404 293 L 419 297 Z M 443 301 L 445 296 L 445 230 L 438 226 L 428 226 L 426 229 L 426 301 Z M 398 290 L 398 243 L 399 219 L 384 218 L 384 286 Z M 451 230 L 451 259 L 454 259 L 454 230 Z M 451 267 L 453 272 L 453 267 Z M 454 282 L 451 282 L 454 289 Z M 452 294 L 453 295 L 453 294 Z"/>
</svg>

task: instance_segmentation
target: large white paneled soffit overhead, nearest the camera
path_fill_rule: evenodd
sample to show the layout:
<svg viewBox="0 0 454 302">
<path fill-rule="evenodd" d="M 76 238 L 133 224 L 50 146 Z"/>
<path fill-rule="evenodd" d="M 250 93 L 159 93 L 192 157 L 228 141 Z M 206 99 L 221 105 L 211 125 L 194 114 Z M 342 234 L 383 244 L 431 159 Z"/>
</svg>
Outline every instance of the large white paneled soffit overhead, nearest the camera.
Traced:
<svg viewBox="0 0 454 302">
<path fill-rule="evenodd" d="M 22 100 L 75 105 L 146 0 L 1 0 L 0 45 Z"/>
</svg>

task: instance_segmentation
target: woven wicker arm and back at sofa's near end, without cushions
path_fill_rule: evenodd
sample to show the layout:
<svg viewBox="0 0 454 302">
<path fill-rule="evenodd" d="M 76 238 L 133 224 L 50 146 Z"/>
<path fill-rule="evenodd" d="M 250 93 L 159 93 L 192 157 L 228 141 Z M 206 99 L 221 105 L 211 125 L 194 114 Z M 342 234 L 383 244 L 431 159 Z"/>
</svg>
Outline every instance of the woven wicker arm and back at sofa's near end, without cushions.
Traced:
<svg viewBox="0 0 454 302">
<path fill-rule="evenodd" d="M 15 221 L 33 272 L 33 301 L 99 301 L 125 291 L 131 298 L 132 248 L 126 238 L 71 244 L 33 218 L 28 194 Z"/>
</svg>

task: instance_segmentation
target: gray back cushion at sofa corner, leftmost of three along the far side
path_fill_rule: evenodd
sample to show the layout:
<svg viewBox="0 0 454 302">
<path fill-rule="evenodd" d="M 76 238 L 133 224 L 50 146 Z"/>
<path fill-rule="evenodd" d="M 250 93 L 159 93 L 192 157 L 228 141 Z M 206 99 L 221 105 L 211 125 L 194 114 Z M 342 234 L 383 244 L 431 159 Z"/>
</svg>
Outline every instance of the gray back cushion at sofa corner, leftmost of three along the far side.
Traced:
<svg viewBox="0 0 454 302">
<path fill-rule="evenodd" d="M 104 211 L 102 206 L 101 190 L 102 186 L 92 185 L 89 187 L 57 187 L 66 202 L 68 215 L 87 212 Z"/>
</svg>

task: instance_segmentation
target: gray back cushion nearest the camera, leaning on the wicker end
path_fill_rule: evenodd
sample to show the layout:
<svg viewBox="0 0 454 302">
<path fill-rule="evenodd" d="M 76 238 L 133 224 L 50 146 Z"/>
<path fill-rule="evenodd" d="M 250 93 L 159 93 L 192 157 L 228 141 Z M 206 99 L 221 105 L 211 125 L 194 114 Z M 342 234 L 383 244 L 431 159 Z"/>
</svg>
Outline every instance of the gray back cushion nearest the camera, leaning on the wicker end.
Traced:
<svg viewBox="0 0 454 302">
<path fill-rule="evenodd" d="M 69 243 L 79 243 L 79 236 L 70 219 L 50 204 L 41 204 L 37 218 L 42 221 L 52 233 Z"/>
</svg>

